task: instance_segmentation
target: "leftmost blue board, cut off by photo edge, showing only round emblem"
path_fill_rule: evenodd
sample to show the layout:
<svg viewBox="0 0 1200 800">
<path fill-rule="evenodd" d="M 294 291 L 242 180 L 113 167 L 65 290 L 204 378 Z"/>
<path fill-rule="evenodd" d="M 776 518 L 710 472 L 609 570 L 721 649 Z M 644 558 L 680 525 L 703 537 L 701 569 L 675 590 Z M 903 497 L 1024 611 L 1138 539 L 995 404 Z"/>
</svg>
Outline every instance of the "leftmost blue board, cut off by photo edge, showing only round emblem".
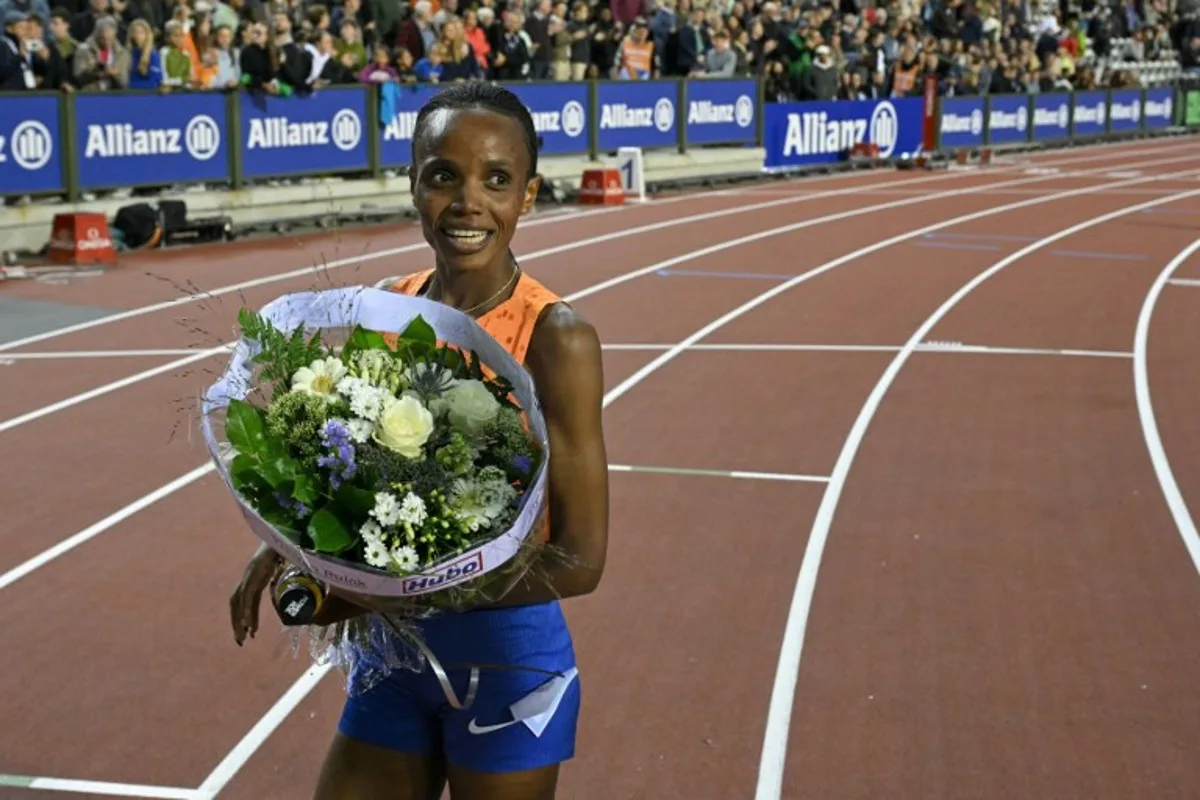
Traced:
<svg viewBox="0 0 1200 800">
<path fill-rule="evenodd" d="M 61 191 L 59 98 L 7 96 L 0 114 L 0 193 Z"/>
</svg>

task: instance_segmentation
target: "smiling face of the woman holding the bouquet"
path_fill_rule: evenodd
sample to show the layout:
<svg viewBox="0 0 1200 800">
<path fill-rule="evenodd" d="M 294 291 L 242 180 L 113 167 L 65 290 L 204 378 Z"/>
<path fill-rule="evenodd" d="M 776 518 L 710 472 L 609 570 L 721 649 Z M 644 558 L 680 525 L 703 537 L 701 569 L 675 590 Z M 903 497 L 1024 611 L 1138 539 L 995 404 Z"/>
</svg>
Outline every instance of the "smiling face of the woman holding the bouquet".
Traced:
<svg viewBox="0 0 1200 800">
<path fill-rule="evenodd" d="M 455 270 L 503 269 L 517 221 L 533 209 L 520 122 L 486 109 L 438 110 L 418 139 L 410 178 L 425 241 Z"/>
</svg>

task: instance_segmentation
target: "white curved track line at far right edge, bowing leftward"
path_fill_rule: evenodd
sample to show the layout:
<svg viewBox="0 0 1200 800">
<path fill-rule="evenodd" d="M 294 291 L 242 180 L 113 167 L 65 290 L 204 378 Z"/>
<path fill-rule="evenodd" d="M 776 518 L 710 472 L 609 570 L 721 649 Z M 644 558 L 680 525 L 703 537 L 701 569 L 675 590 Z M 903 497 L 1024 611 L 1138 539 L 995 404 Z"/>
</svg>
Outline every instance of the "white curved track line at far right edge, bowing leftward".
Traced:
<svg viewBox="0 0 1200 800">
<path fill-rule="evenodd" d="M 1175 473 L 1171 470 L 1171 461 L 1166 457 L 1166 449 L 1163 447 L 1163 439 L 1158 434 L 1158 421 L 1154 417 L 1154 404 L 1150 397 L 1150 369 L 1146 363 L 1146 349 L 1150 339 L 1150 323 L 1154 315 L 1154 306 L 1158 296 L 1163 294 L 1163 287 L 1170 281 L 1171 275 L 1182 266 L 1192 255 L 1200 249 L 1200 239 L 1193 241 L 1163 267 L 1158 273 L 1158 279 L 1146 293 L 1146 299 L 1141 303 L 1138 313 L 1138 327 L 1133 341 L 1133 380 L 1134 397 L 1138 402 L 1138 417 L 1141 421 L 1141 433 L 1146 440 L 1146 450 L 1150 451 L 1150 461 L 1154 465 L 1154 475 L 1158 485 L 1163 489 L 1163 498 L 1166 507 L 1171 511 L 1175 528 L 1180 531 L 1183 546 L 1192 557 L 1192 564 L 1200 572 L 1200 534 L 1196 533 L 1188 504 L 1180 492 L 1178 483 L 1175 482 Z"/>
</svg>

